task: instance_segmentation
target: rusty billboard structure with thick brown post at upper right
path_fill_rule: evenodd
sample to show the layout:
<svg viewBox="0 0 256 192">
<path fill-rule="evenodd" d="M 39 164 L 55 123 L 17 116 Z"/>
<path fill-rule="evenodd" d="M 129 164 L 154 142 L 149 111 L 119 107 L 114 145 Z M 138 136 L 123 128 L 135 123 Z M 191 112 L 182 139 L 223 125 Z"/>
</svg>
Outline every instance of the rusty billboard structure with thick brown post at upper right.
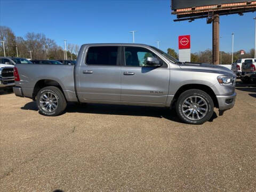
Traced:
<svg viewBox="0 0 256 192">
<path fill-rule="evenodd" d="M 244 0 L 172 0 L 174 21 L 194 21 L 206 18 L 212 23 L 212 63 L 219 64 L 219 23 L 220 15 L 239 14 L 256 11 L 256 1 Z"/>
</svg>

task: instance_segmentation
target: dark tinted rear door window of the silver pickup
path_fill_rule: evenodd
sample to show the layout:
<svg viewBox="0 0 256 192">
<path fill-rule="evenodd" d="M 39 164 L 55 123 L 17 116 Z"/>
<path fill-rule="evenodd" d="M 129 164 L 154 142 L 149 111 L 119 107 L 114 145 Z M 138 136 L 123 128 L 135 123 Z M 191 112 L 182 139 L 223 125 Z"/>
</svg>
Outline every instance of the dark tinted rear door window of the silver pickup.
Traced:
<svg viewBox="0 0 256 192">
<path fill-rule="evenodd" d="M 86 55 L 87 65 L 117 65 L 117 46 L 89 47 Z"/>
</svg>

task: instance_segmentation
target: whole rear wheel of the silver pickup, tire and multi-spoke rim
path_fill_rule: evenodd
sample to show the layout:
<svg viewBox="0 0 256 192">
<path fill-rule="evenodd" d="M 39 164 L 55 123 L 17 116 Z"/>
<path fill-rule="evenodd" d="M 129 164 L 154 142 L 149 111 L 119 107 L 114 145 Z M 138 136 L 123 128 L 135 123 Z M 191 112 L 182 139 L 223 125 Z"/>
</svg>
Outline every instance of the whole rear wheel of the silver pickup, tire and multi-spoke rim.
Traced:
<svg viewBox="0 0 256 192">
<path fill-rule="evenodd" d="M 67 101 L 58 87 L 47 86 L 36 95 L 39 113 L 45 116 L 57 116 L 67 107 Z"/>
</svg>

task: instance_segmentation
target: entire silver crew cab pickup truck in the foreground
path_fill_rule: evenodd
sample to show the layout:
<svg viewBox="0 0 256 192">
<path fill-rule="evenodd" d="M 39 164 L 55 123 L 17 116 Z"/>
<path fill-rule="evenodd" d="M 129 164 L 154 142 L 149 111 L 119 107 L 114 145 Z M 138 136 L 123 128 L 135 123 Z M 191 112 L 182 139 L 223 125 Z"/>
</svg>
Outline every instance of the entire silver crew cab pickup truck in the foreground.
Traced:
<svg viewBox="0 0 256 192">
<path fill-rule="evenodd" d="M 19 97 L 57 116 L 67 102 L 175 107 L 183 122 L 202 124 L 234 106 L 236 75 L 207 64 L 182 63 L 144 44 L 84 44 L 75 65 L 19 64 Z"/>
</svg>

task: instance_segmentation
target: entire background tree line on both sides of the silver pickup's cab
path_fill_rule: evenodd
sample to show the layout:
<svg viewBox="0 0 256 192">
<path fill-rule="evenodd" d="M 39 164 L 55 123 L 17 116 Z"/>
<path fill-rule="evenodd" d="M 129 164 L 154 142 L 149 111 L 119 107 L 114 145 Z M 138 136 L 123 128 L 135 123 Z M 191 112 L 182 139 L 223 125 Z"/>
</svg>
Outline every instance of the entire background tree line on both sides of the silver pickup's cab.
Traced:
<svg viewBox="0 0 256 192">
<path fill-rule="evenodd" d="M 24 37 L 16 37 L 13 31 L 6 26 L 0 26 L 0 40 L 4 41 L 5 54 L 7 57 L 30 58 L 32 51 L 33 59 L 63 59 L 64 51 L 53 39 L 47 38 L 44 34 L 27 33 Z M 79 46 L 67 44 L 67 58 L 76 59 Z M 178 59 L 178 54 L 174 49 L 167 49 L 167 53 Z M 221 63 L 231 64 L 232 55 L 229 52 L 221 51 Z M 0 45 L 0 55 L 4 55 L 3 45 Z M 254 58 L 254 50 L 241 55 L 240 51 L 234 52 L 233 61 L 242 58 Z M 196 53 L 191 53 L 191 62 L 212 63 L 212 50 L 207 49 Z"/>
</svg>

